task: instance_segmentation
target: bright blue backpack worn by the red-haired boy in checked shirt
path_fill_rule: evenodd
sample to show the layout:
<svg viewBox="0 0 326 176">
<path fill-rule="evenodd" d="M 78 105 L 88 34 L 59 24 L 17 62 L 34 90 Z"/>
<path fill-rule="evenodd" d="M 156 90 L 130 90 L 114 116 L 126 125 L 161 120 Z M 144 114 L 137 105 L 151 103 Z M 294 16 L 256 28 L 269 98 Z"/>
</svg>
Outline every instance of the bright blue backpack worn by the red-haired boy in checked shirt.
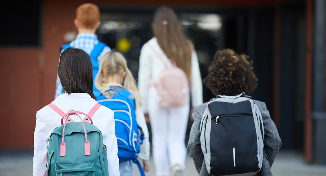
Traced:
<svg viewBox="0 0 326 176">
<path fill-rule="evenodd" d="M 101 51 L 103 50 L 103 48 L 105 46 L 106 46 L 105 43 L 98 41 L 98 43 L 94 46 L 93 51 L 89 55 L 91 58 L 91 61 L 92 61 L 92 65 L 93 65 L 93 93 L 96 97 L 98 97 L 101 94 L 101 92 L 95 87 L 95 76 L 98 73 L 98 67 L 99 67 L 98 62 L 97 62 L 97 57 L 101 53 Z M 61 49 L 67 49 L 68 47 L 70 47 L 70 43 L 63 45 L 61 47 Z M 63 91 L 65 91 L 65 90 L 63 90 Z M 64 92 L 62 92 L 62 93 L 64 93 Z"/>
</svg>

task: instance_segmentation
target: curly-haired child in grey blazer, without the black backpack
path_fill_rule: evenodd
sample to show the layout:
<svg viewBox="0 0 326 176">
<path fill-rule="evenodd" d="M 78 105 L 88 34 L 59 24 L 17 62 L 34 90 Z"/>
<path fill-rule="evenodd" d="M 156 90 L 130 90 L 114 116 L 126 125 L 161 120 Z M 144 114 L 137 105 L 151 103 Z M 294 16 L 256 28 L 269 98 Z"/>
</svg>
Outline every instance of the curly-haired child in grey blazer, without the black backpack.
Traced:
<svg viewBox="0 0 326 176">
<path fill-rule="evenodd" d="M 249 95 L 257 87 L 258 79 L 253 71 L 253 62 L 248 61 L 248 59 L 247 55 L 237 54 L 231 49 L 217 51 L 214 61 L 208 69 L 208 75 L 203 80 L 204 84 L 215 95 L 235 96 L 242 92 Z M 281 139 L 265 103 L 257 100 L 253 101 L 261 112 L 265 131 L 262 167 L 256 175 L 272 175 L 271 167 L 276 153 L 281 147 Z M 194 123 L 191 127 L 187 147 L 187 153 L 193 158 L 199 176 L 209 175 L 200 146 L 200 121 L 207 103 L 194 109 Z"/>
</svg>

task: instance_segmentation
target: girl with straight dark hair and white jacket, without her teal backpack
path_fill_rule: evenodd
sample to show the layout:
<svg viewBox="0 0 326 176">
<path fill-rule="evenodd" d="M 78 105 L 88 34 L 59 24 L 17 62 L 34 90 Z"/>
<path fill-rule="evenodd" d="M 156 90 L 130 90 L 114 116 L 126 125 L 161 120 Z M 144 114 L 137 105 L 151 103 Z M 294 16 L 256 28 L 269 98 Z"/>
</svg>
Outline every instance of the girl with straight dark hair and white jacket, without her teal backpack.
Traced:
<svg viewBox="0 0 326 176">
<path fill-rule="evenodd" d="M 89 55 L 82 49 L 68 47 L 60 55 L 58 76 L 65 93 L 53 100 L 52 106 L 56 106 L 64 114 L 70 110 L 88 114 L 97 104 L 96 96 L 93 93 L 92 62 Z M 91 120 L 93 125 L 101 131 L 104 145 L 110 149 L 106 151 L 108 174 L 120 176 L 113 116 L 114 112 L 111 109 L 100 106 Z M 81 117 L 84 119 L 85 115 L 81 115 Z M 60 120 L 62 120 L 62 116 L 50 106 L 45 106 L 36 113 L 33 176 L 42 176 L 47 169 L 47 164 L 49 164 L 47 163 L 47 153 L 51 133 L 55 128 L 61 126 Z M 69 116 L 68 121 L 70 120 L 71 122 L 81 122 L 77 115 Z"/>
</svg>

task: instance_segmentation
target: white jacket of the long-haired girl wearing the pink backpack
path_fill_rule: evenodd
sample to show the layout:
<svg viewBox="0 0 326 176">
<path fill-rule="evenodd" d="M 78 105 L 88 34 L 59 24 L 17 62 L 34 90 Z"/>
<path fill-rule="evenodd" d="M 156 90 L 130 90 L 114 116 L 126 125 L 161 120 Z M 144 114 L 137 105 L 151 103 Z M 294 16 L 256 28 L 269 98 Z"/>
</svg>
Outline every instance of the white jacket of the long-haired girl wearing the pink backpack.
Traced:
<svg viewBox="0 0 326 176">
<path fill-rule="evenodd" d="M 148 45 L 151 45 L 151 47 Z M 156 50 L 156 52 L 153 51 L 152 47 Z M 166 60 L 165 63 L 172 65 L 169 58 L 158 45 L 156 37 L 150 39 L 141 48 L 141 55 L 139 58 L 138 89 L 141 94 L 142 110 L 144 113 L 147 113 L 148 87 L 159 82 L 160 75 L 165 69 L 165 64 L 156 53 L 159 54 L 162 59 Z M 192 50 L 191 53 L 191 82 L 191 103 L 193 107 L 196 107 L 202 104 L 203 100 L 202 81 L 195 50 Z"/>
</svg>

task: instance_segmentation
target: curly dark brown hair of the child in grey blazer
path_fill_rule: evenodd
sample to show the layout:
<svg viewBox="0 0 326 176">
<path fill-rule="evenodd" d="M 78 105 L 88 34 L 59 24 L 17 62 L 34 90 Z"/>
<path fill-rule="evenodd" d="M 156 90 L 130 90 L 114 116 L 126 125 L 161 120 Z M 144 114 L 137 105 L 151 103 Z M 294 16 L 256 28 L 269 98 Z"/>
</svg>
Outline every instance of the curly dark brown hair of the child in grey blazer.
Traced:
<svg viewBox="0 0 326 176">
<path fill-rule="evenodd" d="M 206 87 L 215 95 L 249 95 L 257 87 L 249 56 L 237 54 L 232 49 L 217 51 L 213 63 L 208 68 L 208 75 L 203 80 Z"/>
</svg>

